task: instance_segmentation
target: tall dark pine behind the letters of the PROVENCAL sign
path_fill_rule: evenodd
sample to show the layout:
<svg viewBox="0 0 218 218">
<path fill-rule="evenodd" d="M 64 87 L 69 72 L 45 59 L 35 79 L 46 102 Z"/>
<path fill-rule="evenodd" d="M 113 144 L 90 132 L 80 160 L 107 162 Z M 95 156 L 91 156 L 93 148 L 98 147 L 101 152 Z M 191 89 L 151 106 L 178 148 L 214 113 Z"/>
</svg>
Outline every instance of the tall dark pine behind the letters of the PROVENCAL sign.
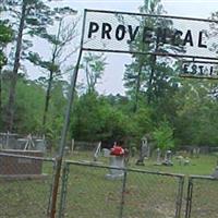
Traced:
<svg viewBox="0 0 218 218">
<path fill-rule="evenodd" d="M 140 11 L 141 13 L 156 15 L 165 13 L 160 0 L 145 1 Z M 172 21 L 168 19 L 143 17 L 138 22 L 140 26 L 148 26 L 150 29 L 165 27 L 169 33 L 174 31 Z M 182 47 L 165 46 L 159 37 L 156 37 L 154 43 L 143 41 L 141 40 L 142 34 L 140 33 L 136 40 L 131 44 L 131 50 L 144 53 L 183 51 Z M 137 110 L 138 101 L 144 100 L 146 97 L 148 105 L 157 104 L 162 95 L 177 83 L 172 76 L 174 68 L 167 62 L 166 58 L 159 58 L 156 55 L 133 55 L 133 62 L 126 65 L 124 85 L 128 88 L 128 94 L 134 99 L 134 112 Z"/>
</svg>

